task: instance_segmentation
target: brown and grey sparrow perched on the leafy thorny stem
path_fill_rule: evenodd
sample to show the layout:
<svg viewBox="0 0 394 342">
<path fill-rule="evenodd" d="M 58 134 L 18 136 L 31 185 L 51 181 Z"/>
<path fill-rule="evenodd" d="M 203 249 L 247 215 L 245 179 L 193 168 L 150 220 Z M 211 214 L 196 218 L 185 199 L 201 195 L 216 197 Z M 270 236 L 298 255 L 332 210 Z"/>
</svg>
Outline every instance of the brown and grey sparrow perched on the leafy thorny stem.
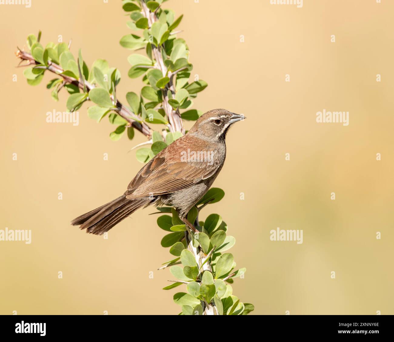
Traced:
<svg viewBox="0 0 394 342">
<path fill-rule="evenodd" d="M 71 221 L 87 233 L 102 235 L 141 207 L 172 206 L 188 229 L 189 210 L 209 190 L 226 158 L 226 134 L 243 115 L 225 109 L 201 115 L 190 130 L 149 160 L 125 193 Z"/>
</svg>

